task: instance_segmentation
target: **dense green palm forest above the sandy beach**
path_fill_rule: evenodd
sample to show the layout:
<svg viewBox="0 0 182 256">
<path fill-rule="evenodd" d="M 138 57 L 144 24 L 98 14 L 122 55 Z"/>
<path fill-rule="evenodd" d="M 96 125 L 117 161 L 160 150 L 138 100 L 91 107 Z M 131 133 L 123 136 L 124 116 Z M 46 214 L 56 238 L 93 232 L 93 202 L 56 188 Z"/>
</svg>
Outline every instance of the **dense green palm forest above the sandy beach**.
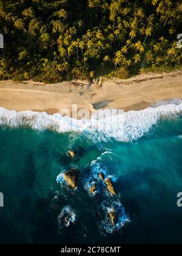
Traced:
<svg viewBox="0 0 182 256">
<path fill-rule="evenodd" d="M 180 68 L 181 13 L 181 0 L 0 0 L 0 77 L 51 83 Z"/>
</svg>

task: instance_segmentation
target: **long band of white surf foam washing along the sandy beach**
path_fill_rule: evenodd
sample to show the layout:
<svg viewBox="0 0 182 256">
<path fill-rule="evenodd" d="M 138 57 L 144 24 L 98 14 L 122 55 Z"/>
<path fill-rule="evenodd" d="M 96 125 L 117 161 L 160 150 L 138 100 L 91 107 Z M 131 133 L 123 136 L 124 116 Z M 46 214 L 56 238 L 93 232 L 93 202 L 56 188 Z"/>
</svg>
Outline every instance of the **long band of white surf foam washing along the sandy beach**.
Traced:
<svg viewBox="0 0 182 256">
<path fill-rule="evenodd" d="M 49 129 L 59 133 L 82 132 L 96 141 L 107 141 L 112 138 L 117 141 L 132 141 L 149 132 L 161 118 L 177 115 L 181 111 L 182 101 L 180 99 L 176 99 L 175 104 L 161 105 L 158 103 L 157 107 L 100 119 L 93 116 L 90 120 L 76 120 L 61 116 L 59 113 L 49 115 L 45 112 L 16 112 L 0 107 L 0 126 L 32 127 L 35 130 Z"/>
</svg>

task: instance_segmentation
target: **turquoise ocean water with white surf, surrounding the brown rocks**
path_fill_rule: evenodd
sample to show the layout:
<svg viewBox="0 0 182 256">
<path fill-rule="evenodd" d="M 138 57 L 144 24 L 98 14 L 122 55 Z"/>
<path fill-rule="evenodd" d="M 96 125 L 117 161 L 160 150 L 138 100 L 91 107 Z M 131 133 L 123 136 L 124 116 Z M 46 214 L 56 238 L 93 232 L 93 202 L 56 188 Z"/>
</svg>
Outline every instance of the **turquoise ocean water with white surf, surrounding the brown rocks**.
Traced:
<svg viewBox="0 0 182 256">
<path fill-rule="evenodd" d="M 116 126 L 110 120 L 108 132 L 109 120 L 101 130 L 86 123 L 70 129 L 59 115 L 1 108 L 0 243 L 181 243 L 181 110 L 170 104 L 126 113 Z M 67 157 L 79 147 L 79 157 Z M 73 166 L 81 170 L 74 191 L 59 179 Z M 96 179 L 99 171 L 113 180 L 116 196 Z M 99 191 L 90 196 L 93 181 Z M 108 217 L 113 205 L 121 211 L 116 227 Z"/>
</svg>

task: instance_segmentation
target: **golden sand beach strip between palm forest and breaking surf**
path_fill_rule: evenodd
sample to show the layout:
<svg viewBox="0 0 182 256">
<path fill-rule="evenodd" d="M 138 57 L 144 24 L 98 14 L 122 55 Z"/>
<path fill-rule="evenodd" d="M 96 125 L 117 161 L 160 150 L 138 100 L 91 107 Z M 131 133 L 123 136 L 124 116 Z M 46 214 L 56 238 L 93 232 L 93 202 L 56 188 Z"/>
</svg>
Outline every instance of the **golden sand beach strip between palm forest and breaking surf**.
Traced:
<svg viewBox="0 0 182 256">
<path fill-rule="evenodd" d="M 52 85 L 0 81 L 0 107 L 18 112 L 32 110 L 53 115 L 67 109 L 72 113 L 73 104 L 90 113 L 106 108 L 128 112 L 171 98 L 182 98 L 182 70 L 140 74 L 127 80 L 104 79 L 100 88 L 79 80 Z"/>
</svg>

